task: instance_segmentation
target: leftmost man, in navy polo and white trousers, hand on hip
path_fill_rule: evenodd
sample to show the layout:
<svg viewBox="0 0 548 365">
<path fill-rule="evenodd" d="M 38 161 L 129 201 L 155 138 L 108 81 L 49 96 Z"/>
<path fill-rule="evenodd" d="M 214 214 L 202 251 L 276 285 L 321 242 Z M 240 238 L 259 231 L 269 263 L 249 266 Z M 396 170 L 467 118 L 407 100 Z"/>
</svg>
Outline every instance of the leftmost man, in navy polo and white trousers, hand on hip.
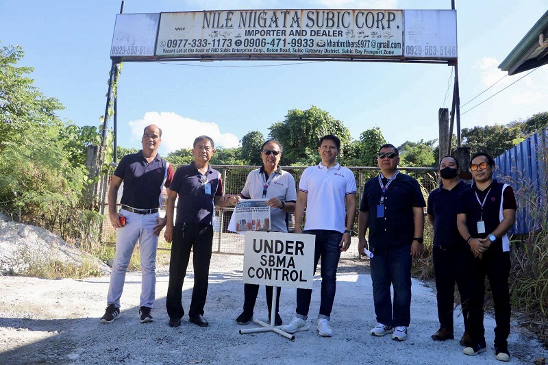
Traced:
<svg viewBox="0 0 548 365">
<path fill-rule="evenodd" d="M 155 125 L 146 127 L 141 139 L 142 150 L 125 155 L 110 181 L 108 217 L 112 227 L 116 228 L 116 255 L 110 274 L 108 307 L 101 323 L 111 323 L 120 317 L 120 297 L 125 273 L 137 240 L 142 270 L 140 321 L 152 322 L 158 235 L 166 224 L 166 220 L 158 216 L 158 207 L 162 205 L 162 186 L 169 188 L 173 179 L 173 167 L 158 155 L 160 142 L 162 129 Z M 122 209 L 116 212 L 116 198 L 122 182 Z M 125 224 L 121 218 L 125 219 Z"/>
</svg>

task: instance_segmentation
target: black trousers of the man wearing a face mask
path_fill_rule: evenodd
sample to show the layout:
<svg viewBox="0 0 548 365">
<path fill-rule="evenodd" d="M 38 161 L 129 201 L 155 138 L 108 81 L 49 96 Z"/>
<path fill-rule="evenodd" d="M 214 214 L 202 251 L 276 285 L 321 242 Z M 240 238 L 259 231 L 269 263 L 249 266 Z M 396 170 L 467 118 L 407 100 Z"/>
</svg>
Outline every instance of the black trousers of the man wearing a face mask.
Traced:
<svg viewBox="0 0 548 365">
<path fill-rule="evenodd" d="M 468 331 L 469 283 L 464 270 L 472 264 L 473 254 L 469 248 L 460 246 L 434 246 L 434 275 L 436 276 L 436 299 L 440 328 L 453 331 L 453 309 L 455 284 L 457 284 L 464 319 L 464 331 Z"/>
</svg>

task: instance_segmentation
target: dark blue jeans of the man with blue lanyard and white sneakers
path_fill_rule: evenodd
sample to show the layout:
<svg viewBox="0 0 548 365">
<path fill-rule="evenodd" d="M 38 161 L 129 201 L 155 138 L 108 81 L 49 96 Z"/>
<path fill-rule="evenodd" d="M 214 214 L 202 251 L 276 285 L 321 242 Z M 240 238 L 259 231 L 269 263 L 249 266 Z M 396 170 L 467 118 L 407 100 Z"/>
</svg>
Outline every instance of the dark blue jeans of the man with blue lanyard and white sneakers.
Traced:
<svg viewBox="0 0 548 365">
<path fill-rule="evenodd" d="M 410 245 L 377 249 L 370 265 L 377 322 L 393 327 L 408 327 L 411 321 Z M 394 288 L 394 306 L 390 285 Z"/>
</svg>

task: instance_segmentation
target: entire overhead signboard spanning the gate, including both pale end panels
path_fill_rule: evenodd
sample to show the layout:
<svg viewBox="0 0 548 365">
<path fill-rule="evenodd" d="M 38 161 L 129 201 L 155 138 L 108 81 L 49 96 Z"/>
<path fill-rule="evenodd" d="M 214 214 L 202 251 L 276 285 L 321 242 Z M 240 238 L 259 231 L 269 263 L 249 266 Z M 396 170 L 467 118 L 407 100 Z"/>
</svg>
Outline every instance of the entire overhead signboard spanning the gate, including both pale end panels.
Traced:
<svg viewBox="0 0 548 365">
<path fill-rule="evenodd" d="M 451 60 L 456 10 L 119 14 L 113 60 Z"/>
</svg>

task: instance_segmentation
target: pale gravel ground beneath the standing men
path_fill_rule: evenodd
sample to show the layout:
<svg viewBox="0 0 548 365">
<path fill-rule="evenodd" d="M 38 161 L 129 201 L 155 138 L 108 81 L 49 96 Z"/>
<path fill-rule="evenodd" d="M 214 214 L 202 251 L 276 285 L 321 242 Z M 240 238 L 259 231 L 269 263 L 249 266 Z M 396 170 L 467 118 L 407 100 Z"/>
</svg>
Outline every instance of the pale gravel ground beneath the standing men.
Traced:
<svg viewBox="0 0 548 365">
<path fill-rule="evenodd" d="M 434 342 L 438 329 L 435 293 L 413 281 L 412 323 L 409 338 L 395 342 L 375 338 L 371 277 L 367 261 L 342 260 L 332 312 L 332 338 L 316 331 L 320 278 L 314 280 L 310 331 L 296 333 L 294 341 L 276 333 L 241 335 L 236 325 L 243 301 L 243 256 L 213 255 L 205 317 L 201 328 L 185 317 L 181 327 L 167 325 L 165 294 L 168 268 L 158 268 L 154 322 L 138 320 L 140 273 L 129 273 L 122 296 L 122 316 L 99 324 L 106 306 L 108 276 L 73 280 L 0 277 L 0 364 L 499 364 L 493 352 L 495 320 L 486 316 L 488 351 L 475 357 L 462 354 L 458 338 L 463 331 L 456 310 L 456 339 Z M 192 266 L 184 284 L 186 311 L 192 290 Z M 284 288 L 280 314 L 288 323 L 295 312 L 295 289 Z M 264 290 L 260 290 L 256 318 L 266 320 Z M 531 364 L 548 352 L 534 338 L 512 329 L 511 364 Z"/>
</svg>

